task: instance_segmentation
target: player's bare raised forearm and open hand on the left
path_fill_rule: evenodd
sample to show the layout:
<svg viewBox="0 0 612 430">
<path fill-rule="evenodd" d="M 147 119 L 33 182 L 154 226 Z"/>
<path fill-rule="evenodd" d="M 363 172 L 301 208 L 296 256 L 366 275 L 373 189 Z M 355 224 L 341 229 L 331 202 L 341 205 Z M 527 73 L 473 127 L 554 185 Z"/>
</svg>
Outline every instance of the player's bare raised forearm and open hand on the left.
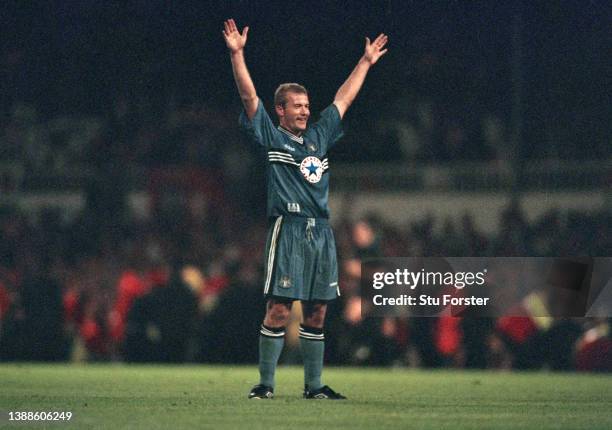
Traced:
<svg viewBox="0 0 612 430">
<path fill-rule="evenodd" d="M 249 119 L 253 119 L 255 112 L 257 112 L 259 99 L 257 98 L 257 92 L 249 74 L 249 69 L 247 69 L 246 62 L 244 61 L 244 45 L 246 45 L 249 27 L 244 27 L 241 34 L 233 19 L 228 19 L 223 25 L 225 27 L 223 29 L 223 37 L 230 51 L 236 87 L 238 87 L 238 93 L 242 99 L 247 116 Z"/>
</svg>

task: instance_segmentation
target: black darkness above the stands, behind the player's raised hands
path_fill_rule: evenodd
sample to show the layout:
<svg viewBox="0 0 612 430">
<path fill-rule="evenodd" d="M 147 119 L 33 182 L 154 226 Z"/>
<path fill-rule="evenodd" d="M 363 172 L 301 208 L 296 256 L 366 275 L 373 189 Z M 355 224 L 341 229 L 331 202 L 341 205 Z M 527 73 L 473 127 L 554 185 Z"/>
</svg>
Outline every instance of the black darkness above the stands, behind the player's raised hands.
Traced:
<svg viewBox="0 0 612 430">
<path fill-rule="evenodd" d="M 118 94 L 163 104 L 170 94 L 238 106 L 222 21 L 251 27 L 247 62 L 269 104 L 297 81 L 315 110 L 329 103 L 361 55 L 363 37 L 390 36 L 355 117 L 389 113 L 398 94 L 510 118 L 511 36 L 522 21 L 526 127 L 599 122 L 610 135 L 609 2 L 458 1 L 47 1 L 3 2 L 2 93 L 7 109 L 43 113 L 108 109 Z M 535 121 L 533 124 L 530 121 Z M 607 127 L 607 128 L 606 128 Z M 537 138 L 537 133 L 536 133 Z"/>
</svg>

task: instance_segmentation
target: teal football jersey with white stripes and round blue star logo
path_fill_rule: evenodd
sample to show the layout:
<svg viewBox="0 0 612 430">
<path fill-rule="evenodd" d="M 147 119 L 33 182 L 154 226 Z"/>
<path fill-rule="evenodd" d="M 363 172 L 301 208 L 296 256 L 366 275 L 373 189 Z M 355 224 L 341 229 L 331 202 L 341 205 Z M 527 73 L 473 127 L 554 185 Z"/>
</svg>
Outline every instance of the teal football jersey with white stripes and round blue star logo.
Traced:
<svg viewBox="0 0 612 430">
<path fill-rule="evenodd" d="M 252 120 L 243 110 L 240 125 L 267 151 L 268 216 L 329 218 L 327 153 L 343 134 L 336 106 L 324 109 L 299 137 L 275 127 L 261 100 Z"/>
</svg>

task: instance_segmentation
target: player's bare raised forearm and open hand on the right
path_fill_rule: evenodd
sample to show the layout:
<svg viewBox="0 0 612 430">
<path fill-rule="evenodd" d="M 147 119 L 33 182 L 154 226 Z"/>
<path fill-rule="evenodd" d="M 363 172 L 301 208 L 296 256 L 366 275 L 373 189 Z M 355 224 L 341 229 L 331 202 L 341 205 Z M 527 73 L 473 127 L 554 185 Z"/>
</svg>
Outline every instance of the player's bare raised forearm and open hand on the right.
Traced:
<svg viewBox="0 0 612 430">
<path fill-rule="evenodd" d="M 355 66 L 346 81 L 338 89 L 334 98 L 334 104 L 338 108 L 338 112 L 340 112 L 340 118 L 344 116 L 346 110 L 353 103 L 355 97 L 357 97 L 370 67 L 376 64 L 378 59 L 387 52 L 386 49 L 383 49 L 387 44 L 387 40 L 389 40 L 388 37 L 382 33 L 371 43 L 370 39 L 366 37 L 363 56 L 359 59 L 357 66 Z"/>
</svg>

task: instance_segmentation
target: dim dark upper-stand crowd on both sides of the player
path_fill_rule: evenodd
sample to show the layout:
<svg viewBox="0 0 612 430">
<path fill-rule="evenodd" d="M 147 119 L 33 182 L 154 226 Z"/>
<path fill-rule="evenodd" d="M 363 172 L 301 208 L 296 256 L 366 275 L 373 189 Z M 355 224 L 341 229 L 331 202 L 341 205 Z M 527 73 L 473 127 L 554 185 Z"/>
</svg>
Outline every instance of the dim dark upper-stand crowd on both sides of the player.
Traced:
<svg viewBox="0 0 612 430">
<path fill-rule="evenodd" d="M 264 100 L 264 102 L 266 102 Z M 267 105 L 270 109 L 271 107 Z M 243 144 L 236 127 L 238 106 L 171 99 L 117 97 L 104 115 L 46 116 L 36 105 L 15 103 L 0 120 L 0 186 L 6 191 L 48 186 L 44 178 L 112 171 L 131 179 L 138 168 L 204 168 L 245 176 L 256 149 Z M 345 142 L 334 150 L 341 162 L 512 162 L 607 159 L 603 141 L 568 143 L 524 139 L 513 143 L 501 116 L 487 111 L 460 115 L 464 106 L 400 95 L 384 116 L 345 121 Z M 576 141 L 580 142 L 580 141 Z M 36 183 L 38 180 L 39 183 Z"/>
</svg>

